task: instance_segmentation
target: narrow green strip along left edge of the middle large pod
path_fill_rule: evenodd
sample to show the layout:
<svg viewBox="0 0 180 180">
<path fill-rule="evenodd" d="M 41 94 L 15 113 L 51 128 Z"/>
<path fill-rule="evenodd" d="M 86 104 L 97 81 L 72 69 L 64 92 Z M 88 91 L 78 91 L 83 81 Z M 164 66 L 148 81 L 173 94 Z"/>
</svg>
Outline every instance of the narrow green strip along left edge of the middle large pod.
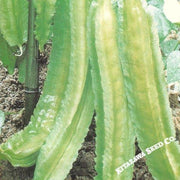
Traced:
<svg viewBox="0 0 180 180">
<path fill-rule="evenodd" d="M 103 174 L 103 154 L 105 149 L 104 141 L 104 110 L 103 110 L 103 90 L 101 87 L 101 77 L 97 62 L 97 53 L 95 48 L 95 14 L 97 2 L 92 1 L 88 14 L 88 54 L 91 64 L 92 86 L 95 96 L 94 106 L 96 110 L 96 165 L 95 169 L 98 172 L 98 177 L 102 178 Z"/>
</svg>

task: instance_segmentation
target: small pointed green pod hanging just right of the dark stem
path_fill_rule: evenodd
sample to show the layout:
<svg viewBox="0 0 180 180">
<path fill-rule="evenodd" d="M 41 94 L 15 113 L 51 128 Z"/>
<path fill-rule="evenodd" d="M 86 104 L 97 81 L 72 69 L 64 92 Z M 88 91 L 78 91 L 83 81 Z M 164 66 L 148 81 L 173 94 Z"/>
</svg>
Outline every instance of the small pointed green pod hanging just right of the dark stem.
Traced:
<svg viewBox="0 0 180 180">
<path fill-rule="evenodd" d="M 52 26 L 52 17 L 55 13 L 56 0 L 34 0 L 36 7 L 36 39 L 39 41 L 40 50 L 44 49 L 44 44 L 49 39 Z"/>
</svg>

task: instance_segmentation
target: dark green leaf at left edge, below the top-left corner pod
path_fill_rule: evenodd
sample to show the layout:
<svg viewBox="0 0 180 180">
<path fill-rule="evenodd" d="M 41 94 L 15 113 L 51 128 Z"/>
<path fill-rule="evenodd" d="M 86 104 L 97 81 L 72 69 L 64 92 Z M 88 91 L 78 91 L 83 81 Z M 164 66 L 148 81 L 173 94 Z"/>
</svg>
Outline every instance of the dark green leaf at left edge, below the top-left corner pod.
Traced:
<svg viewBox="0 0 180 180">
<path fill-rule="evenodd" d="M 7 41 L 2 37 L 1 33 L 0 33 L 0 60 L 3 62 L 4 67 L 8 69 L 8 72 L 12 74 L 14 72 L 16 57 L 13 54 L 13 48 L 9 46 Z"/>
</svg>

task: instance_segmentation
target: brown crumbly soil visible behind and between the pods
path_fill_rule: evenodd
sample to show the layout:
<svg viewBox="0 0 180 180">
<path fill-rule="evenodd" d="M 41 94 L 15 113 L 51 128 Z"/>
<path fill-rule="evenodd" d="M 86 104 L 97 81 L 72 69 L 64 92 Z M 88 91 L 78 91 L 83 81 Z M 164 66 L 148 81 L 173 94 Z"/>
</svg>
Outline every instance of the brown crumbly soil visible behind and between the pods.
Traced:
<svg viewBox="0 0 180 180">
<path fill-rule="evenodd" d="M 40 63 L 40 90 L 46 77 L 48 55 L 50 48 L 39 57 Z M 170 103 L 172 107 L 173 120 L 176 129 L 180 130 L 180 104 L 177 95 L 170 95 Z M 18 70 L 14 74 L 8 74 L 6 68 L 0 62 L 0 110 L 5 112 L 5 124 L 2 127 L 0 135 L 0 143 L 5 142 L 8 137 L 23 129 L 24 114 L 24 85 L 18 81 Z M 89 127 L 89 132 L 82 143 L 78 157 L 73 163 L 73 168 L 67 175 L 66 180 L 92 180 L 96 176 L 95 165 L 95 120 Z M 177 131 L 178 132 L 178 131 Z M 177 133 L 179 137 L 179 133 Z M 135 143 L 136 154 L 140 152 L 138 143 Z M 0 180 L 32 180 L 34 166 L 30 168 L 13 167 L 7 161 L 0 162 Z M 135 163 L 133 180 L 152 180 L 152 176 L 148 171 L 145 159 L 140 159 Z"/>
</svg>

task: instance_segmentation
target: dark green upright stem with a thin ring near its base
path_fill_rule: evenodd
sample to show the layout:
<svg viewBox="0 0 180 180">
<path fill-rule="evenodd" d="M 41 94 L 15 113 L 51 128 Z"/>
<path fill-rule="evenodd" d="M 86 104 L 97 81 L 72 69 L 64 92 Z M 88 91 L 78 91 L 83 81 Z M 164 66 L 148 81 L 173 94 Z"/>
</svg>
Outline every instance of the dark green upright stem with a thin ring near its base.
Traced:
<svg viewBox="0 0 180 180">
<path fill-rule="evenodd" d="M 35 8 L 29 0 L 28 43 L 25 76 L 25 123 L 33 113 L 39 97 L 38 43 L 34 36 Z"/>
</svg>

